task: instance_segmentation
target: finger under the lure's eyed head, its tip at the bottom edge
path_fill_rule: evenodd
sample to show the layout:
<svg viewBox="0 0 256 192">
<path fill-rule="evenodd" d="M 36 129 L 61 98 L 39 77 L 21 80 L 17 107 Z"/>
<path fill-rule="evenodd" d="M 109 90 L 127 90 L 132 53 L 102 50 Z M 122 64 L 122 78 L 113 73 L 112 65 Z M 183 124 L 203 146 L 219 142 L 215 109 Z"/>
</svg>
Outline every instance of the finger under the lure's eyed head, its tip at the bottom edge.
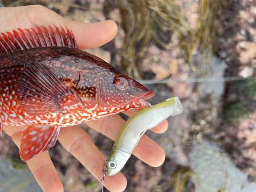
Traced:
<svg viewBox="0 0 256 192">
<path fill-rule="evenodd" d="M 62 128 L 59 142 L 64 148 L 76 157 L 91 174 L 101 181 L 102 166 L 105 156 L 91 141 L 90 136 L 79 126 Z M 118 173 L 105 177 L 104 186 L 110 191 L 123 191 L 126 188 L 125 176 Z"/>
</svg>

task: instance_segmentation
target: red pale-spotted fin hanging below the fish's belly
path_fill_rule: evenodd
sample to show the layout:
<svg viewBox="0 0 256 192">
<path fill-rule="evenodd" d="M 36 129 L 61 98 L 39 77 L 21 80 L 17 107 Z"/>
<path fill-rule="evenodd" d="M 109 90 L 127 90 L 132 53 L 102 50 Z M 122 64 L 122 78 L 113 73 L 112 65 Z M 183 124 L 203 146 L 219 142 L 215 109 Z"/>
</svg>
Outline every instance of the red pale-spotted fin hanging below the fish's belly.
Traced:
<svg viewBox="0 0 256 192">
<path fill-rule="evenodd" d="M 57 141 L 60 128 L 49 126 L 29 126 L 22 132 L 20 158 L 27 161 L 34 155 L 53 147 Z"/>
</svg>

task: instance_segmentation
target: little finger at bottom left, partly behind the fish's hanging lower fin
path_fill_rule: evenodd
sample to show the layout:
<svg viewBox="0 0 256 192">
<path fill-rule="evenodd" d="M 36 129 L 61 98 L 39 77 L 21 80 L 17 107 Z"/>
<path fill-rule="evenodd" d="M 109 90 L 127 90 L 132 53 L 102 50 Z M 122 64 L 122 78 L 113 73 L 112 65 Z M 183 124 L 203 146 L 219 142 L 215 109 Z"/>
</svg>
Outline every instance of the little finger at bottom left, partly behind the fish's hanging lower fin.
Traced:
<svg viewBox="0 0 256 192">
<path fill-rule="evenodd" d="M 21 132 L 12 135 L 17 146 L 20 145 Z M 63 192 L 63 185 L 56 172 L 48 151 L 41 152 L 28 160 L 27 165 L 44 192 Z"/>
</svg>

